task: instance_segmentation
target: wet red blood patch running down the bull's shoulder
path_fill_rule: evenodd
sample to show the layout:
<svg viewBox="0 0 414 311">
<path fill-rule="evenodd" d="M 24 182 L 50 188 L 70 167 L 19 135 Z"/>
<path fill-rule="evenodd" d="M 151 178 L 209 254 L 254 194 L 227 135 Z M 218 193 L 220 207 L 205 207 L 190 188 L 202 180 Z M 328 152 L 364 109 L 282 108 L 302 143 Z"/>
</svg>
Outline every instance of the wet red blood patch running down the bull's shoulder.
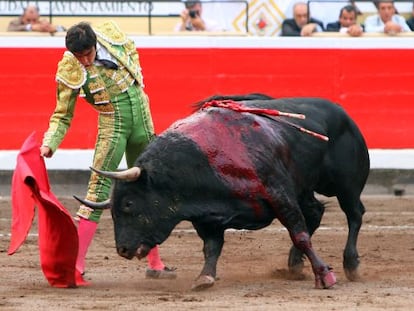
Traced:
<svg viewBox="0 0 414 311">
<path fill-rule="evenodd" d="M 255 162 L 258 156 L 273 153 L 278 136 L 268 122 L 251 114 L 209 108 L 174 124 L 170 130 L 193 140 L 233 194 L 249 202 L 260 215 L 257 196 L 269 196 Z M 271 162 L 268 164 L 271 169 Z"/>
</svg>

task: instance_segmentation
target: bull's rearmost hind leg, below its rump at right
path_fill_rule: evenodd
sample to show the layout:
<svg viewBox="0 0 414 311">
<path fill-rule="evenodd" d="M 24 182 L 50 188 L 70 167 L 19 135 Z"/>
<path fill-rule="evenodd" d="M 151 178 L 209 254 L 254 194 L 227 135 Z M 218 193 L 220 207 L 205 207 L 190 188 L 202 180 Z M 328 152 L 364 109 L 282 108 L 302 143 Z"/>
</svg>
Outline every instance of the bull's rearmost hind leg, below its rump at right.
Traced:
<svg viewBox="0 0 414 311">
<path fill-rule="evenodd" d="M 357 241 L 365 207 L 359 198 L 351 200 L 349 196 L 338 196 L 338 202 L 348 220 L 348 239 L 343 254 L 343 268 L 348 280 L 356 281 L 359 279 Z"/>
</svg>

